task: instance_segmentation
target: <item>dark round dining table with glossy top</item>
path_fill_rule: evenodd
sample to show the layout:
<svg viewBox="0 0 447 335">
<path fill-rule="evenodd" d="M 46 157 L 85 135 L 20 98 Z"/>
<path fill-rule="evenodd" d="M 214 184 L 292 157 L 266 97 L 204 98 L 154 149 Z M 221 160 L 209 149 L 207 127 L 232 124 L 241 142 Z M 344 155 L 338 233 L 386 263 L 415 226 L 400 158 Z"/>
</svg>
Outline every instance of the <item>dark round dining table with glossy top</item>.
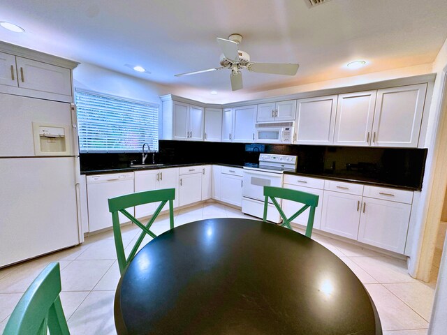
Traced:
<svg viewBox="0 0 447 335">
<path fill-rule="evenodd" d="M 342 260 L 271 223 L 212 218 L 144 246 L 115 295 L 118 334 L 382 334 Z"/>
</svg>

